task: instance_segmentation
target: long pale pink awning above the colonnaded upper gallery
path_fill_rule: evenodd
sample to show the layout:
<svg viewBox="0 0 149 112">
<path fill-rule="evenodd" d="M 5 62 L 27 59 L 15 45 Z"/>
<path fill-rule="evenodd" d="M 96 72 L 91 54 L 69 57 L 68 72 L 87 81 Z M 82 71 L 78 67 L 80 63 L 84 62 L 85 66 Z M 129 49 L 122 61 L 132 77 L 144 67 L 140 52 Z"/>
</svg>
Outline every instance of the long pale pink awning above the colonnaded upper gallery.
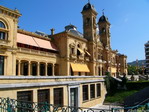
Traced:
<svg viewBox="0 0 149 112">
<path fill-rule="evenodd" d="M 25 35 L 22 33 L 17 33 L 17 43 L 58 51 L 56 46 L 50 40 L 44 40 L 42 38 L 37 38 L 35 36 Z"/>
</svg>

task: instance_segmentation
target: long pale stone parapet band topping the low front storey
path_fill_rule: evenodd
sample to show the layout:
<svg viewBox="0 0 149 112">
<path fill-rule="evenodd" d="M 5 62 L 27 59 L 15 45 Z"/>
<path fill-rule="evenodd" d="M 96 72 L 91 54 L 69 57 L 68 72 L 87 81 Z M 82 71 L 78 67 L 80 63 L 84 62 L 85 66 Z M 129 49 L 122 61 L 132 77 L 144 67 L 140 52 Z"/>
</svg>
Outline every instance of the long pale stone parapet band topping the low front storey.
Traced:
<svg viewBox="0 0 149 112">
<path fill-rule="evenodd" d="M 104 76 L 0 76 L 0 89 L 103 82 Z M 9 83 L 8 83 L 9 82 Z"/>
</svg>

